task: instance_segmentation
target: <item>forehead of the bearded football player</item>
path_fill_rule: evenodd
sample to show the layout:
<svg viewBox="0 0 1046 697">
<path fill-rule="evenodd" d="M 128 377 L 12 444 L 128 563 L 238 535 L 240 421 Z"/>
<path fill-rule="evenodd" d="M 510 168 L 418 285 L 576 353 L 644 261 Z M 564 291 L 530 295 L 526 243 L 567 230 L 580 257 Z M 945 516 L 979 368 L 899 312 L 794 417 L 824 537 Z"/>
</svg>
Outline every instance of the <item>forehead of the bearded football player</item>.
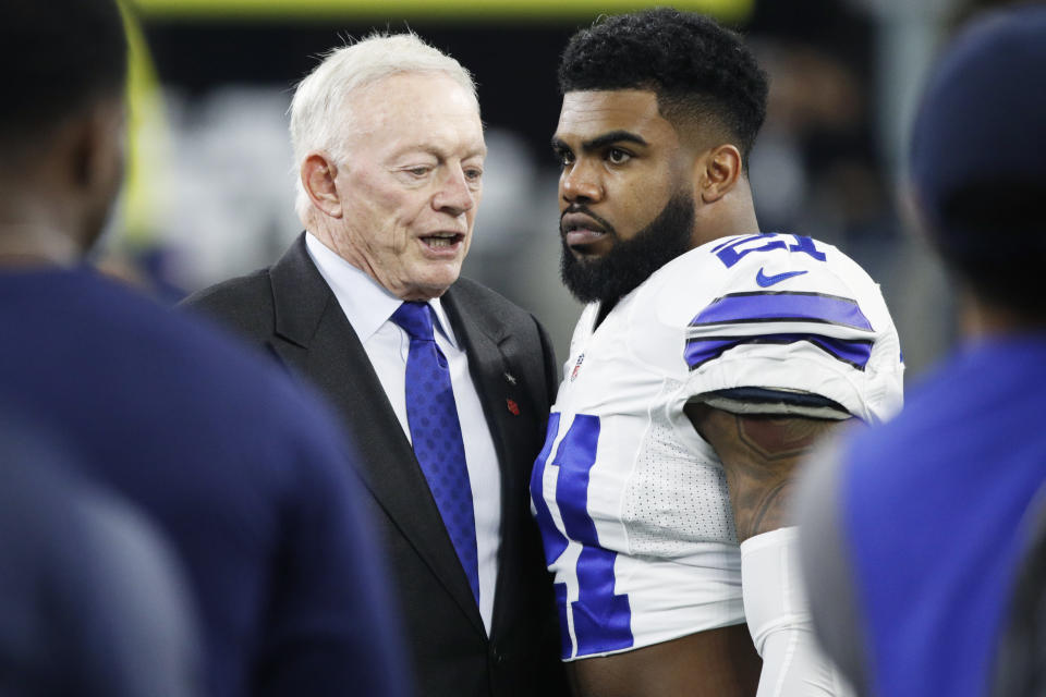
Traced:
<svg viewBox="0 0 1046 697">
<path fill-rule="evenodd" d="M 556 139 L 571 144 L 616 131 L 650 142 L 674 137 L 674 129 L 661 115 L 652 90 L 598 89 L 563 95 Z"/>
</svg>

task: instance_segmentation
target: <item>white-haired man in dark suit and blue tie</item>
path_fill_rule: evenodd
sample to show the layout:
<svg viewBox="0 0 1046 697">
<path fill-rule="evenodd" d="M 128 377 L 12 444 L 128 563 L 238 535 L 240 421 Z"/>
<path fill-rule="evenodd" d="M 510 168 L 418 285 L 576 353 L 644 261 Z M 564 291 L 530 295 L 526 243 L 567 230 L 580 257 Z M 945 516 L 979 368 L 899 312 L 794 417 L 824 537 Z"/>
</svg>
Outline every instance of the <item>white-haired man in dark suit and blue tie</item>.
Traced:
<svg viewBox="0 0 1046 697">
<path fill-rule="evenodd" d="M 187 303 L 338 406 L 418 688 L 562 694 L 526 499 L 555 358 L 528 313 L 459 278 L 487 154 L 472 77 L 412 34 L 372 36 L 297 86 L 291 138 L 305 232 Z"/>
</svg>

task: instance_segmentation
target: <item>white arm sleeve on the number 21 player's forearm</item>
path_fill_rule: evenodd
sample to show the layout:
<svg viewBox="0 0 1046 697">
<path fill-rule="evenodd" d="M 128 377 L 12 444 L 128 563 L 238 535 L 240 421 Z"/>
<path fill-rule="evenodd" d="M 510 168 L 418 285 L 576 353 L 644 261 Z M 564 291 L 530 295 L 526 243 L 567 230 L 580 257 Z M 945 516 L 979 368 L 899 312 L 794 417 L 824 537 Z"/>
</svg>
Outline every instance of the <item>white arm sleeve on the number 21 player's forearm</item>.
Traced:
<svg viewBox="0 0 1046 697">
<path fill-rule="evenodd" d="M 784 527 L 741 543 L 744 614 L 763 657 L 757 697 L 849 697 L 814 636 L 796 541 L 798 528 Z"/>
</svg>

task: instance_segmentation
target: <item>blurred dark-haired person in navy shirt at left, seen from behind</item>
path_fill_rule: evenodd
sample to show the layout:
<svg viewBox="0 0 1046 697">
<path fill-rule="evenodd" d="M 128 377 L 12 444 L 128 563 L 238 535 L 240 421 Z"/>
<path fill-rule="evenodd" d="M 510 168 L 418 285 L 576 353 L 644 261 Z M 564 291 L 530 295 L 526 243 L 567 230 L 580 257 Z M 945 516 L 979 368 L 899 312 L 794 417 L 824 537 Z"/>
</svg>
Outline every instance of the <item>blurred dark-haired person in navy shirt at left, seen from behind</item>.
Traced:
<svg viewBox="0 0 1046 697">
<path fill-rule="evenodd" d="M 0 56 L 0 399 L 172 543 L 206 694 L 401 695 L 380 564 L 328 415 L 212 329 L 80 266 L 121 181 L 115 3 L 4 2 Z"/>
</svg>

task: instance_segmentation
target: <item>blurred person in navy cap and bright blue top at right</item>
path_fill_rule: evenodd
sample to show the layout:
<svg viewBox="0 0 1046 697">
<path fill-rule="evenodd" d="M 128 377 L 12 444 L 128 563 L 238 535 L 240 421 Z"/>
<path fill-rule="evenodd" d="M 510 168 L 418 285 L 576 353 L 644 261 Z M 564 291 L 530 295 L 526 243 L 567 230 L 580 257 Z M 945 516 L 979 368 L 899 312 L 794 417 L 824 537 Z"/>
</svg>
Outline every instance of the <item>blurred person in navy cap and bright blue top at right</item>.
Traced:
<svg viewBox="0 0 1046 697">
<path fill-rule="evenodd" d="M 1042 4 L 985 15 L 933 72 L 909 174 L 963 343 L 896 420 L 835 443 L 803 480 L 815 626 L 862 694 L 987 694 L 1018 610 L 1046 484 L 1044 82 Z"/>
</svg>

